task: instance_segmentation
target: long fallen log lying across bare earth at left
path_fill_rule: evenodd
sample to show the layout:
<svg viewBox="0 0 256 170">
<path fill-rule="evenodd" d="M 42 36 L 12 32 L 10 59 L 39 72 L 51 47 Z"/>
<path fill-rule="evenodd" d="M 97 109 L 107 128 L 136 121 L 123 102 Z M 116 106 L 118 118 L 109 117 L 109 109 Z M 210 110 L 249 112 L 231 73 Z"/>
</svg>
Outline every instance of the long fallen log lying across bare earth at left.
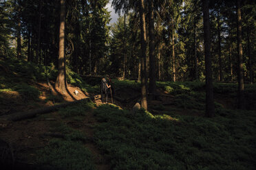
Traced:
<svg viewBox="0 0 256 170">
<path fill-rule="evenodd" d="M 70 102 L 65 102 L 63 104 L 56 104 L 54 106 L 49 106 L 46 108 L 39 108 L 36 110 L 28 110 L 28 111 L 23 111 L 23 112 L 17 112 L 14 114 L 9 114 L 9 115 L 5 115 L 5 116 L 1 116 L 0 119 L 4 119 L 4 120 L 8 120 L 8 121 L 20 121 L 23 119 L 29 119 L 32 117 L 36 117 L 36 114 L 45 114 L 48 112 L 54 112 L 60 108 L 64 108 L 67 106 L 71 106 L 73 104 L 78 104 L 81 101 L 89 101 L 90 99 L 94 100 L 94 96 L 93 97 L 89 97 L 89 98 L 85 98 L 85 99 L 81 99 L 81 100 L 76 100 L 76 101 L 70 101 Z"/>
</svg>

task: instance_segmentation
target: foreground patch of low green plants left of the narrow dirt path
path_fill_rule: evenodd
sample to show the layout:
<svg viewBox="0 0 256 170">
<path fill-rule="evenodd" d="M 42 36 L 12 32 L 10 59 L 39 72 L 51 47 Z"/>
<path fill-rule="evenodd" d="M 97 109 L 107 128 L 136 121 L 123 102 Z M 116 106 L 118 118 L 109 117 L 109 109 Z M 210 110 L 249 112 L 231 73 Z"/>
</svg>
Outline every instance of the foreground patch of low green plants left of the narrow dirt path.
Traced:
<svg viewBox="0 0 256 170">
<path fill-rule="evenodd" d="M 85 106 L 86 107 L 86 106 Z M 37 151 L 36 165 L 42 169 L 94 170 L 91 151 L 85 147 L 87 137 L 63 121 L 52 123 L 50 132 L 63 134 L 63 138 L 52 138 L 49 144 Z"/>
</svg>

